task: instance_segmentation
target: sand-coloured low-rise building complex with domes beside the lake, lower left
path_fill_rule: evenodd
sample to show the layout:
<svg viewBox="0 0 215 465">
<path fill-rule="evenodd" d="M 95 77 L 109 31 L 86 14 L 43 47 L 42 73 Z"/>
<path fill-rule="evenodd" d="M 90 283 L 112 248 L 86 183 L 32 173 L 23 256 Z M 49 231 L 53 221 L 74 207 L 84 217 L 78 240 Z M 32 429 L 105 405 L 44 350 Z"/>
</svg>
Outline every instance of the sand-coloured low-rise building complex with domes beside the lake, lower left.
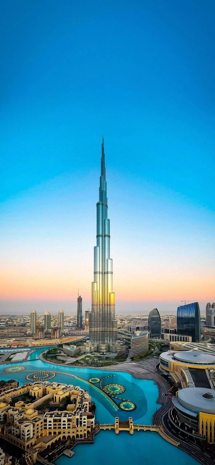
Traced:
<svg viewBox="0 0 215 465">
<path fill-rule="evenodd" d="M 29 401 L 19 400 L 17 396 L 23 393 L 29 394 Z M 13 398 L 16 402 L 10 405 Z M 44 412 L 47 399 L 52 402 L 52 412 Z M 65 410 L 60 411 L 64 402 Z M 78 386 L 26 383 L 0 395 L 0 434 L 24 451 L 44 449 L 55 439 L 82 440 L 94 429 L 91 406 L 88 392 Z"/>
</svg>

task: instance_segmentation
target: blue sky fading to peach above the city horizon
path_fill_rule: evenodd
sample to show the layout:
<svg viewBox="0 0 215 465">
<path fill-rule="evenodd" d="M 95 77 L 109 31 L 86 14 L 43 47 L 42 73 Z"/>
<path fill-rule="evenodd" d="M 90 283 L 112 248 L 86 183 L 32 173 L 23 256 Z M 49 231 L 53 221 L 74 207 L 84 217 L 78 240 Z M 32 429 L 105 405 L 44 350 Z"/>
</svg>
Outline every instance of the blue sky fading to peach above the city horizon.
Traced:
<svg viewBox="0 0 215 465">
<path fill-rule="evenodd" d="M 0 311 L 75 312 L 76 287 L 90 306 L 103 127 L 116 311 L 203 310 L 214 2 L 9 0 L 1 16 Z"/>
</svg>

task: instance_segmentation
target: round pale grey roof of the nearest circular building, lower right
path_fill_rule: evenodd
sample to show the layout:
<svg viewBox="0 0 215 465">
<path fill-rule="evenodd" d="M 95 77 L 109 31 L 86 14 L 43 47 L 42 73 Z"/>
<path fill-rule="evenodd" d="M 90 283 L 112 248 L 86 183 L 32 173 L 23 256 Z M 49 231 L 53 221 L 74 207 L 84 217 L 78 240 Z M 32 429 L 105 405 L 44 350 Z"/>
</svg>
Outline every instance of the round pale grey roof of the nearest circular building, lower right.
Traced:
<svg viewBox="0 0 215 465">
<path fill-rule="evenodd" d="M 187 387 L 178 392 L 178 402 L 185 409 L 199 413 L 215 413 L 215 390 Z"/>
</svg>

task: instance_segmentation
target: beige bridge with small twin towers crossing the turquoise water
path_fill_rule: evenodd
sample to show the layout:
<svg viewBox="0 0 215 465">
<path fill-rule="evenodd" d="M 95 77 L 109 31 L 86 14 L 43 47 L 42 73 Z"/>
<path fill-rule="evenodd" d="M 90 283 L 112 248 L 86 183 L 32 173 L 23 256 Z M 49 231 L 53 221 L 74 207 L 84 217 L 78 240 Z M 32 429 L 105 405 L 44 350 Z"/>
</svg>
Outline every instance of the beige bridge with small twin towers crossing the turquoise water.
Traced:
<svg viewBox="0 0 215 465">
<path fill-rule="evenodd" d="M 128 431 L 130 434 L 134 433 L 134 430 L 137 431 L 156 431 L 160 434 L 163 439 L 166 439 L 170 444 L 175 445 L 176 447 L 179 446 L 179 442 L 175 441 L 175 439 L 168 436 L 168 434 L 164 431 L 161 425 L 137 425 L 133 423 L 133 419 L 129 417 L 128 421 L 119 421 L 118 417 L 115 417 L 115 423 L 105 423 L 104 425 L 100 425 L 101 430 L 111 430 L 114 429 L 116 434 L 119 434 L 120 431 Z"/>
</svg>

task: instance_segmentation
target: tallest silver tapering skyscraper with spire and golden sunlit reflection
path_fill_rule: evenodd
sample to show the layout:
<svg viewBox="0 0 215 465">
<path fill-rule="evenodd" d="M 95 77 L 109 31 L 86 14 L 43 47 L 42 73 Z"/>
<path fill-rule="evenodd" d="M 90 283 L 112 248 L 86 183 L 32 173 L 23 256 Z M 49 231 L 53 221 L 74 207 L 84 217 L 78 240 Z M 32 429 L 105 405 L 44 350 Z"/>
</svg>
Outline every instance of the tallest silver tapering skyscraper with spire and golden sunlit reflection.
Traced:
<svg viewBox="0 0 215 465">
<path fill-rule="evenodd" d="M 101 144 L 101 176 L 96 211 L 97 234 L 94 247 L 94 282 L 92 283 L 89 339 L 100 344 L 108 344 L 117 341 L 117 322 L 113 292 L 113 261 L 110 259 L 110 220 L 108 219 L 104 138 Z"/>
</svg>

